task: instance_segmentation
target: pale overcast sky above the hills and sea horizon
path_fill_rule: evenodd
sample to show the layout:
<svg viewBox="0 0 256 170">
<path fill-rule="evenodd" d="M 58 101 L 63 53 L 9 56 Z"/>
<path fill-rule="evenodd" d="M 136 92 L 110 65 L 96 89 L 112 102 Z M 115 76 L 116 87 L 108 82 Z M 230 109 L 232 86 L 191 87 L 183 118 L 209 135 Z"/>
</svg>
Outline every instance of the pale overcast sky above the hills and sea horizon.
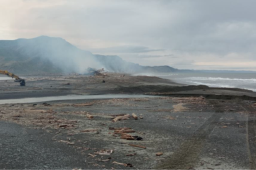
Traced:
<svg viewBox="0 0 256 170">
<path fill-rule="evenodd" d="M 256 0 L 0 0 L 0 40 L 62 37 L 180 69 L 256 70 Z"/>
</svg>

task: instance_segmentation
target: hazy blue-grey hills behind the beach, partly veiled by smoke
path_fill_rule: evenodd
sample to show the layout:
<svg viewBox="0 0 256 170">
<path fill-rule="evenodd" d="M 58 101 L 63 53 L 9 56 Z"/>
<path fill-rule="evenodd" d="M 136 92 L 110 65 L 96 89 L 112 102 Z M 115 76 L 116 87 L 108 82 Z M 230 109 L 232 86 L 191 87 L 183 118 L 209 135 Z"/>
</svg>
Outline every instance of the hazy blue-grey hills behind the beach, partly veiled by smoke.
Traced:
<svg viewBox="0 0 256 170">
<path fill-rule="evenodd" d="M 169 66 L 142 66 L 118 56 L 94 55 L 62 38 L 41 36 L 33 39 L 0 40 L 0 69 L 14 73 L 84 73 L 87 67 L 111 72 L 169 73 Z"/>
</svg>

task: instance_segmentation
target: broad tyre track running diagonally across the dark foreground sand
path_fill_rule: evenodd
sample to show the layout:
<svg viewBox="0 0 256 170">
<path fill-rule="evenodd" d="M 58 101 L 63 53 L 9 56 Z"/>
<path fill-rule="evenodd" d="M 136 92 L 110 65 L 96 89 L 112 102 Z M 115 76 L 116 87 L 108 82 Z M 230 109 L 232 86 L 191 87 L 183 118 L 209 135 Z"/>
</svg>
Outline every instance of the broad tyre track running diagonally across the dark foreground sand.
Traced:
<svg viewBox="0 0 256 170">
<path fill-rule="evenodd" d="M 189 139 L 185 140 L 170 158 L 158 164 L 154 170 L 188 170 L 189 167 L 194 167 L 198 163 L 206 139 L 223 116 L 223 111 L 219 110 L 220 102 L 215 100 L 209 102 L 214 106 L 215 113 Z"/>
</svg>

